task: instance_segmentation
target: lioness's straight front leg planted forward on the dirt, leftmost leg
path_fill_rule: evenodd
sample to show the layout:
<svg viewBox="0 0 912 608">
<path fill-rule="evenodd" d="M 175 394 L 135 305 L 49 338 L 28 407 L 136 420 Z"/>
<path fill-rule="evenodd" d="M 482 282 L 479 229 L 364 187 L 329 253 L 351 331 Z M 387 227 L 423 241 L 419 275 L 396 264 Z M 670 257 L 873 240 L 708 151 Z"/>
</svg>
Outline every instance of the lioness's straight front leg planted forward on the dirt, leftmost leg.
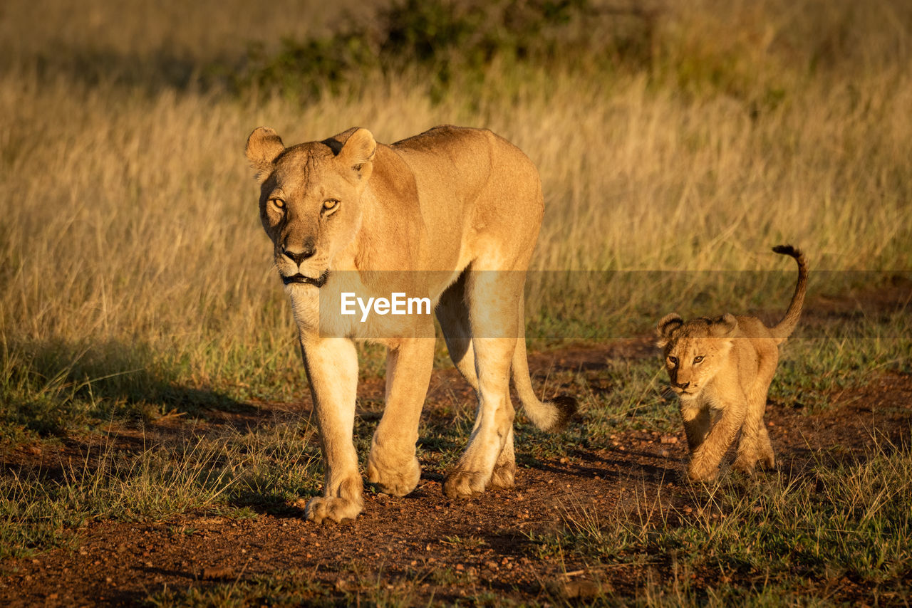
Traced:
<svg viewBox="0 0 912 608">
<path fill-rule="evenodd" d="M 305 514 L 317 523 L 354 519 L 363 506 L 358 453 L 352 443 L 358 353 L 347 338 L 302 340 L 302 351 L 326 467 L 323 496 L 308 501 Z"/>
</svg>

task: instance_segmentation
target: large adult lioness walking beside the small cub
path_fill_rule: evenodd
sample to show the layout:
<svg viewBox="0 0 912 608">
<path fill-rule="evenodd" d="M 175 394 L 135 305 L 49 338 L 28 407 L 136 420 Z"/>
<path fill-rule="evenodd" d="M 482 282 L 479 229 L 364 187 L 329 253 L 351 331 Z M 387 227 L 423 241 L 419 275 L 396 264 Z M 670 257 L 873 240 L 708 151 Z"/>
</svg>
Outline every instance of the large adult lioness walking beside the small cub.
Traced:
<svg viewBox="0 0 912 608">
<path fill-rule="evenodd" d="M 375 314 L 365 322 L 335 314 L 332 303 L 347 294 L 430 300 L 451 359 L 478 396 L 472 437 L 444 492 L 469 497 L 512 486 L 510 377 L 539 428 L 560 428 L 575 410 L 569 397 L 540 402 L 529 379 L 523 284 L 544 213 L 532 161 L 491 131 L 456 127 L 389 146 L 368 129 L 348 129 L 289 148 L 261 127 L 247 139 L 246 156 L 291 298 L 326 464 L 324 495 L 307 502 L 307 519 L 352 519 L 362 508 L 352 443 L 355 340 L 388 347 L 386 407 L 368 479 L 395 496 L 420 479 L 415 444 L 433 362 L 432 317 Z"/>
</svg>

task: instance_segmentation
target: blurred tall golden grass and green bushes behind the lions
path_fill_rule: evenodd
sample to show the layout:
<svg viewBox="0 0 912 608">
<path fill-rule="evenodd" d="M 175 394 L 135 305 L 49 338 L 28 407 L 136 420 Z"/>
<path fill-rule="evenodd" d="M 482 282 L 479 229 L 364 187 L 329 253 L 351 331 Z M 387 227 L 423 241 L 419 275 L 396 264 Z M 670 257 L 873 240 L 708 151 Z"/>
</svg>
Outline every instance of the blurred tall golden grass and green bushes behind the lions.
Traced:
<svg viewBox="0 0 912 608">
<path fill-rule="evenodd" d="M 780 242 L 834 271 L 816 294 L 907 276 L 909 108 L 906 0 L 7 0 L 0 434 L 306 390 L 244 162 L 259 125 L 516 143 L 544 182 L 540 347 L 778 314 Z"/>
</svg>

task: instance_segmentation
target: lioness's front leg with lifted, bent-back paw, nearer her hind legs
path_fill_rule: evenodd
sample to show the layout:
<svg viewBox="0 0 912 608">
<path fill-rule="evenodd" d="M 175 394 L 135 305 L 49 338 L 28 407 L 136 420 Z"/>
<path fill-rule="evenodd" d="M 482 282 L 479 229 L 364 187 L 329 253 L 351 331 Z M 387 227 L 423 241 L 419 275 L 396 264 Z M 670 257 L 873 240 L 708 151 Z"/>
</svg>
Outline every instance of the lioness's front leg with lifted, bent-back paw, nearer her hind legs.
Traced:
<svg viewBox="0 0 912 608">
<path fill-rule="evenodd" d="M 434 362 L 430 322 L 427 329 L 430 337 L 402 340 L 387 355 L 386 407 L 370 444 L 368 481 L 393 496 L 408 494 L 421 477 L 415 444 Z"/>
</svg>

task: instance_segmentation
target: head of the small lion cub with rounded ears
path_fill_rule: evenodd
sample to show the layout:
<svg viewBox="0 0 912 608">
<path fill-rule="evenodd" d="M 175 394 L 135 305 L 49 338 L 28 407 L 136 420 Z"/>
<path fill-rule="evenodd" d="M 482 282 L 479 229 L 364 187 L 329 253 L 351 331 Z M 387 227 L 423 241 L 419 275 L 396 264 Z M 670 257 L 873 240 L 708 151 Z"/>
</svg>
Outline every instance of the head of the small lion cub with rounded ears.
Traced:
<svg viewBox="0 0 912 608">
<path fill-rule="evenodd" d="M 668 314 L 658 322 L 657 345 L 662 349 L 671 388 L 681 399 L 700 396 L 703 388 L 719 373 L 729 356 L 738 321 L 731 314 L 684 322 Z"/>
</svg>

